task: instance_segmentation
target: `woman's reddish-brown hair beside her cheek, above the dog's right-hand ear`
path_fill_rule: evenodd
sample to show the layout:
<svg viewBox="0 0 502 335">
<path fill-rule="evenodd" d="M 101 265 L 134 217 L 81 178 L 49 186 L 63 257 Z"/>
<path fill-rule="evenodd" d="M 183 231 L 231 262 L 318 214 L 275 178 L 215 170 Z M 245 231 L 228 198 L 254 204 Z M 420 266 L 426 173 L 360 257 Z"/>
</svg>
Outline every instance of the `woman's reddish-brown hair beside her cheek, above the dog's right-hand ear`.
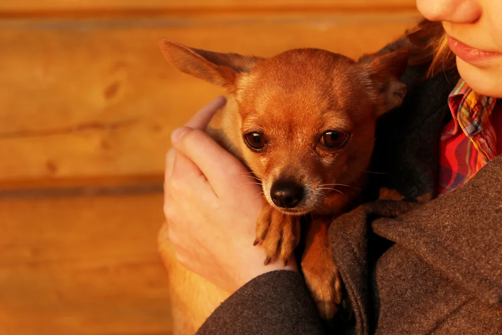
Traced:
<svg viewBox="0 0 502 335">
<path fill-rule="evenodd" d="M 448 36 L 441 22 L 422 20 L 385 50 L 394 51 L 404 47 L 411 47 L 410 65 L 429 67 L 427 77 L 451 70 L 456 66 L 455 54 L 448 46 Z"/>
</svg>

